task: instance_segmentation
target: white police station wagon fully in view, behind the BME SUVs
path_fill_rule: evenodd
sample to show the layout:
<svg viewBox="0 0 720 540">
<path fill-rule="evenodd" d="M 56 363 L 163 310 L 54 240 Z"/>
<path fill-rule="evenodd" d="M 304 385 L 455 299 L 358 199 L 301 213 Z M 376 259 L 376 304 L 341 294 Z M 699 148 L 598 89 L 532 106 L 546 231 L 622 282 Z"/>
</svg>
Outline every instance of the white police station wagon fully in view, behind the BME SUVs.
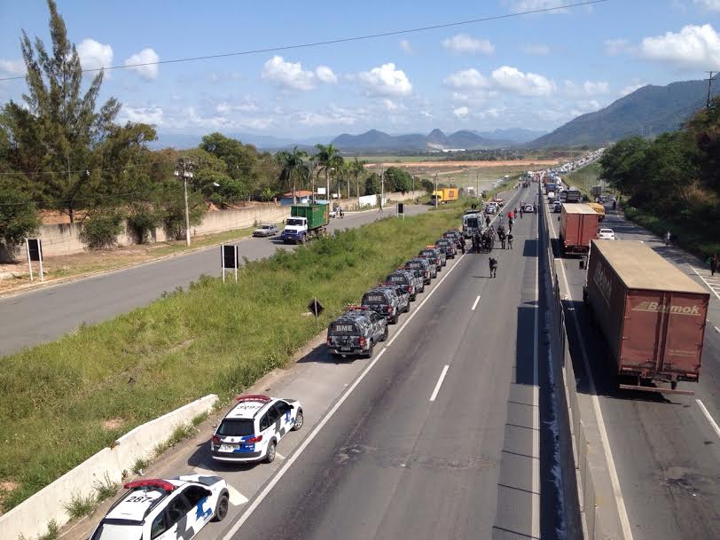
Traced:
<svg viewBox="0 0 720 540">
<path fill-rule="evenodd" d="M 300 402 L 268 395 L 240 395 L 210 441 L 213 459 L 272 463 L 278 442 L 302 427 Z"/>
</svg>

